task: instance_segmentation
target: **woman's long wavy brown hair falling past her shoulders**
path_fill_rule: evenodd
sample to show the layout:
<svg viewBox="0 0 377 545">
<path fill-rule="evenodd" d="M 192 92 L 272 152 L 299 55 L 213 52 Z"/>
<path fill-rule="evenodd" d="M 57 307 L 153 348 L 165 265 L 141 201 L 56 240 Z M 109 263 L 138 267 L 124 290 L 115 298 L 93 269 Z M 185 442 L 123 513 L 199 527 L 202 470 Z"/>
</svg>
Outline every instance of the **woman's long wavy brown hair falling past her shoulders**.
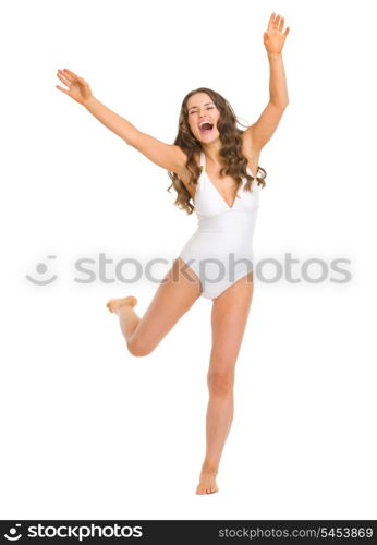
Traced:
<svg viewBox="0 0 377 545">
<path fill-rule="evenodd" d="M 244 125 L 238 120 L 230 104 L 219 93 L 216 93 L 216 90 L 209 89 L 208 87 L 199 87 L 197 89 L 191 90 L 184 97 L 181 106 L 181 112 L 178 123 L 178 135 L 174 140 L 174 144 L 180 146 L 180 148 L 187 156 L 185 167 L 191 173 L 188 183 L 196 185 L 197 180 L 202 173 L 202 169 L 197 166 L 195 160 L 195 154 L 197 152 L 202 152 L 202 145 L 199 141 L 196 140 L 193 135 L 187 121 L 187 100 L 192 95 L 195 95 L 196 93 L 206 93 L 208 96 L 210 96 L 220 112 L 217 128 L 220 133 L 220 141 L 222 144 L 220 149 L 220 157 L 224 162 L 224 167 L 222 167 L 220 170 L 220 177 L 230 175 L 234 178 L 234 180 L 236 180 L 238 182 L 236 192 L 242 184 L 242 180 L 246 178 L 247 182 L 245 183 L 245 190 L 253 191 L 252 182 L 254 178 L 247 173 L 247 159 L 242 155 L 241 134 L 243 133 L 243 131 L 236 126 L 236 123 L 242 126 L 247 125 Z M 258 177 L 259 171 L 262 172 L 260 177 Z M 188 193 L 186 186 L 175 172 L 168 171 L 168 175 L 171 179 L 172 183 L 167 191 L 170 192 L 171 187 L 174 187 L 174 190 L 177 191 L 177 199 L 174 202 L 174 205 L 180 209 L 185 210 L 187 214 L 192 214 L 195 209 L 195 206 L 191 203 L 192 196 Z M 256 179 L 257 183 L 263 187 L 266 185 L 266 170 L 262 167 L 258 167 Z"/>
</svg>

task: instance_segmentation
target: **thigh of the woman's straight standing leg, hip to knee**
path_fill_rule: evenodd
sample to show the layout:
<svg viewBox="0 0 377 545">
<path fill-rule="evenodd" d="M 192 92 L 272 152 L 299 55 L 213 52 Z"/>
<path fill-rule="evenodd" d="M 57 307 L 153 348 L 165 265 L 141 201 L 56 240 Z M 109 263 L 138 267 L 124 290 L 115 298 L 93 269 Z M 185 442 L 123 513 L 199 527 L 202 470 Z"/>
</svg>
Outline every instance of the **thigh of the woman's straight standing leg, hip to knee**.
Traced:
<svg viewBox="0 0 377 545">
<path fill-rule="evenodd" d="M 226 378 L 234 371 L 253 299 L 252 280 L 253 272 L 250 272 L 214 300 L 209 376 Z"/>
</svg>

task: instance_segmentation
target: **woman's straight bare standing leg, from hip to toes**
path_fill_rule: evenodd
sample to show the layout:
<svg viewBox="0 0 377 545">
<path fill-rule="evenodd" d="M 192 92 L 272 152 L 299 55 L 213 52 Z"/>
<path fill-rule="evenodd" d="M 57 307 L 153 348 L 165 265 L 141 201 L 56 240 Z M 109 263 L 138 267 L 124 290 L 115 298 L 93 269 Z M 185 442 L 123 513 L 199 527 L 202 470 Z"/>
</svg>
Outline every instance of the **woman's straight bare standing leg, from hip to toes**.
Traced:
<svg viewBox="0 0 377 545">
<path fill-rule="evenodd" d="M 214 301 L 212 349 L 207 376 L 206 456 L 196 494 L 218 491 L 216 475 L 232 424 L 234 367 L 253 299 L 253 274 L 241 278 Z"/>
</svg>

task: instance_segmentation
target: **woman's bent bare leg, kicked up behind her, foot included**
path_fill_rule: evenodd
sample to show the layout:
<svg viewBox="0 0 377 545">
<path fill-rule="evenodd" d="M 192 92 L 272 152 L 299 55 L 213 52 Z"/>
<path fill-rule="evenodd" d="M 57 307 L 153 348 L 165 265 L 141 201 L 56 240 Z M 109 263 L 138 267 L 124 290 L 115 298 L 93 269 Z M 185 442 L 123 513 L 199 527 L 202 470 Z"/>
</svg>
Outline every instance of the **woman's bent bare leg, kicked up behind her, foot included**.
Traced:
<svg viewBox="0 0 377 545">
<path fill-rule="evenodd" d="M 110 312 L 118 314 L 130 352 L 141 356 L 149 354 L 157 347 L 199 295 L 199 279 L 178 258 L 142 318 L 134 311 L 136 298 L 113 299 L 107 306 Z"/>
</svg>

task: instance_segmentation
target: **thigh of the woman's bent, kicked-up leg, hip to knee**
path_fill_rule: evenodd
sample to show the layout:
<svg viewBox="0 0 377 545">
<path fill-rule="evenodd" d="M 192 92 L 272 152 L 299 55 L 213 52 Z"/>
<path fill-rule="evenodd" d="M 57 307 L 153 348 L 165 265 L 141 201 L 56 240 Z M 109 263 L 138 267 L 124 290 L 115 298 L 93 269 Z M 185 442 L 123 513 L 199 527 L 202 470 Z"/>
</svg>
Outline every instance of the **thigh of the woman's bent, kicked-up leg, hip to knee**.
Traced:
<svg viewBox="0 0 377 545">
<path fill-rule="evenodd" d="M 132 352 L 139 355 L 150 353 L 200 295 L 197 276 L 184 265 L 181 258 L 175 259 L 158 287 L 129 339 L 127 346 Z"/>
</svg>

